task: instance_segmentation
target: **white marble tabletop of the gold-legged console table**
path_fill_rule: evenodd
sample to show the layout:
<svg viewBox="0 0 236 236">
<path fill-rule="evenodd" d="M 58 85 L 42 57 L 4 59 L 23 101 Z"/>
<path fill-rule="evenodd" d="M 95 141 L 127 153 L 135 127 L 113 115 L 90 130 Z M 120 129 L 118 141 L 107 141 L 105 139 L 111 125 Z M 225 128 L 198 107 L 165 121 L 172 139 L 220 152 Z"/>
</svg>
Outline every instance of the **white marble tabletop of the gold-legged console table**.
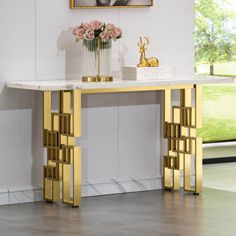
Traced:
<svg viewBox="0 0 236 236">
<path fill-rule="evenodd" d="M 58 91 L 74 89 L 114 89 L 142 86 L 172 86 L 172 85 L 193 85 L 193 84 L 215 84 L 233 83 L 234 78 L 229 77 L 210 77 L 195 75 L 179 75 L 156 80 L 136 81 L 136 80 L 117 80 L 113 82 L 86 83 L 80 80 L 47 80 L 47 81 L 15 81 L 6 84 L 9 88 L 27 89 L 36 91 Z"/>
</svg>

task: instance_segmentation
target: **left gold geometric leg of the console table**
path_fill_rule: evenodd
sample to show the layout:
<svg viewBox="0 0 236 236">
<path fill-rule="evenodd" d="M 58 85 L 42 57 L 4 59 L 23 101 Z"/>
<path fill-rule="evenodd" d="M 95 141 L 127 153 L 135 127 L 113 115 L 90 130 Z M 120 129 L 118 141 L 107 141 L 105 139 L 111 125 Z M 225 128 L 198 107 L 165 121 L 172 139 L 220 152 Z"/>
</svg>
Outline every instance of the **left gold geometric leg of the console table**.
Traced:
<svg viewBox="0 0 236 236">
<path fill-rule="evenodd" d="M 81 91 L 59 91 L 58 112 L 52 112 L 52 92 L 43 93 L 44 199 L 79 206 L 81 201 Z M 62 186 L 62 194 L 61 194 Z"/>
</svg>

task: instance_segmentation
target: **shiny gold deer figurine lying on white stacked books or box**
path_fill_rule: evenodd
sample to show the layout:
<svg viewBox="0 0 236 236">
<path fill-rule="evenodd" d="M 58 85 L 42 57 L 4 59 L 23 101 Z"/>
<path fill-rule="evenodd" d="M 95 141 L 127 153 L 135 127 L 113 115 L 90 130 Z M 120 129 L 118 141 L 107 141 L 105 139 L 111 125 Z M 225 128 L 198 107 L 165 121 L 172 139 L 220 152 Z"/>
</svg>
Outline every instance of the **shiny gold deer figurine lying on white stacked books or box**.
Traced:
<svg viewBox="0 0 236 236">
<path fill-rule="evenodd" d="M 159 66 L 159 61 L 156 57 L 151 57 L 151 58 L 146 58 L 146 50 L 147 50 L 147 45 L 150 44 L 150 39 L 148 37 L 144 37 L 144 41 L 142 37 L 139 39 L 138 47 L 139 47 L 139 52 L 140 52 L 140 61 L 139 64 L 137 65 L 138 67 L 158 67 Z"/>
</svg>

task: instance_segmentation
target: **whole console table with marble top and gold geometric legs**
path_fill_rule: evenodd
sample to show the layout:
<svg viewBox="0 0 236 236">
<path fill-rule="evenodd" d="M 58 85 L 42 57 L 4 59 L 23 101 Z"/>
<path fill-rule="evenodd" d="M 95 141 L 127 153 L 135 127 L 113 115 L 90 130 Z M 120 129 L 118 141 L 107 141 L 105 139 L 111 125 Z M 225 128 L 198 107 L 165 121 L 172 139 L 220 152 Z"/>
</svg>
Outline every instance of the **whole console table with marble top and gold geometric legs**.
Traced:
<svg viewBox="0 0 236 236">
<path fill-rule="evenodd" d="M 42 91 L 43 145 L 47 149 L 44 166 L 44 199 L 79 206 L 81 201 L 81 148 L 75 145 L 81 136 L 81 98 L 83 94 L 164 91 L 164 138 L 167 152 L 163 157 L 163 187 L 179 189 L 183 173 L 185 191 L 202 191 L 201 84 L 232 83 L 231 78 L 172 76 L 152 81 L 19 81 L 7 87 Z M 180 90 L 177 106 L 171 102 L 173 90 Z M 52 92 L 58 92 L 58 111 L 52 111 Z M 192 97 L 194 96 L 194 99 Z M 194 165 L 194 170 L 192 166 Z M 195 180 L 192 181 L 192 175 Z M 194 182 L 194 183 L 193 183 Z M 62 183 L 62 184 L 61 184 Z M 71 189 L 73 186 L 73 190 Z"/>
</svg>

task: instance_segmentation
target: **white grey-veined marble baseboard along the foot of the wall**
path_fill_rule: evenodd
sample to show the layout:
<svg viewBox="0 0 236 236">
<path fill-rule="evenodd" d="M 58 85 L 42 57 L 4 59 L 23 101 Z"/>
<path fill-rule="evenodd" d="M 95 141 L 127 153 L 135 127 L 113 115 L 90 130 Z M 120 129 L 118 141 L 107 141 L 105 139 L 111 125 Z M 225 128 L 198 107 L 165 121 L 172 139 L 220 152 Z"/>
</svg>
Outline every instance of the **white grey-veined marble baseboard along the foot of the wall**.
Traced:
<svg viewBox="0 0 236 236">
<path fill-rule="evenodd" d="M 162 189 L 161 176 L 148 178 L 109 179 L 86 181 L 82 185 L 82 196 L 100 196 Z M 0 205 L 37 202 L 43 200 L 42 187 L 29 186 L 0 189 Z"/>
</svg>

